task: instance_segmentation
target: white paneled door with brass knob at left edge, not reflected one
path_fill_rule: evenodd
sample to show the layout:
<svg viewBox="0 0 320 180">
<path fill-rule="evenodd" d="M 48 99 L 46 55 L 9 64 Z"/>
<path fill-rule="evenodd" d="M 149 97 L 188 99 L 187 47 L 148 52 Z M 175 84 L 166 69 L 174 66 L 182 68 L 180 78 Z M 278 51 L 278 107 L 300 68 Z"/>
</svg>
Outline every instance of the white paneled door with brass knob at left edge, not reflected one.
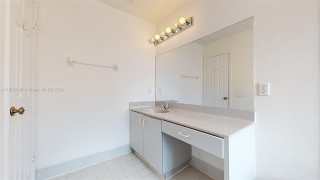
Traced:
<svg viewBox="0 0 320 180">
<path fill-rule="evenodd" d="M 32 123 L 32 92 L 27 89 L 32 87 L 34 59 L 34 29 L 32 21 L 34 20 L 33 7 L 31 0 L 10 0 L 7 1 L 10 8 L 9 45 L 6 45 L 8 52 L 8 61 L 6 66 L 8 72 L 4 73 L 4 78 L 8 80 L 8 85 L 2 88 L 6 91 L 9 107 L 24 107 L 23 114 L 15 113 L 8 115 L 7 129 L 4 138 L 7 144 L 4 144 L 4 155 L 7 156 L 4 165 L 7 165 L 6 171 L 8 179 L 34 179 L 33 163 L 33 137 L 34 128 Z M 24 30 L 22 23 L 25 23 Z M 5 109 L 9 113 L 9 109 Z M 22 111 L 21 111 L 22 112 Z M 32 132 L 33 131 L 33 132 Z"/>
</svg>

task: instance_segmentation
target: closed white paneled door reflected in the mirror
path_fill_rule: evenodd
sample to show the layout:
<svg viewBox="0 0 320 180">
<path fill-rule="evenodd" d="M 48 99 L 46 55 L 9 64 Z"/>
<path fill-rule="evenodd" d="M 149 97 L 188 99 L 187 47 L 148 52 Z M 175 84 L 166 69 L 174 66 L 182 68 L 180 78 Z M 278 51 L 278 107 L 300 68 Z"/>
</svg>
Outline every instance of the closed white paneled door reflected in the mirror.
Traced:
<svg viewBox="0 0 320 180">
<path fill-rule="evenodd" d="M 204 57 L 203 105 L 228 107 L 229 53 Z"/>
</svg>

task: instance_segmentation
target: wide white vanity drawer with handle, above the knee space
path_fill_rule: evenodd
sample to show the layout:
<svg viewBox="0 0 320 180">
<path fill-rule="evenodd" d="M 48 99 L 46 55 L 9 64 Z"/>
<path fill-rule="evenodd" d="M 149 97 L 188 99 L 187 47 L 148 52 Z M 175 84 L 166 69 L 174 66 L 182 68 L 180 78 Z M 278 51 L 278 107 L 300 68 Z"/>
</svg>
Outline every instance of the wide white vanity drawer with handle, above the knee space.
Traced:
<svg viewBox="0 0 320 180">
<path fill-rule="evenodd" d="M 161 131 L 223 158 L 223 138 L 161 120 Z"/>
</svg>

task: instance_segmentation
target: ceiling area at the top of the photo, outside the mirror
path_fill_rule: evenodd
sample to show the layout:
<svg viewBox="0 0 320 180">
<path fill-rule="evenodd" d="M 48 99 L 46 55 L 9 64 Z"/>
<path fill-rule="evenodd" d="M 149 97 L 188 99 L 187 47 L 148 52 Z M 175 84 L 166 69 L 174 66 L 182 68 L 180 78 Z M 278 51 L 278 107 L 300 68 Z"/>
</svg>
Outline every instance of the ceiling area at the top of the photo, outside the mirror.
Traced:
<svg viewBox="0 0 320 180">
<path fill-rule="evenodd" d="M 157 23 L 185 0 L 98 0 L 114 8 Z"/>
</svg>

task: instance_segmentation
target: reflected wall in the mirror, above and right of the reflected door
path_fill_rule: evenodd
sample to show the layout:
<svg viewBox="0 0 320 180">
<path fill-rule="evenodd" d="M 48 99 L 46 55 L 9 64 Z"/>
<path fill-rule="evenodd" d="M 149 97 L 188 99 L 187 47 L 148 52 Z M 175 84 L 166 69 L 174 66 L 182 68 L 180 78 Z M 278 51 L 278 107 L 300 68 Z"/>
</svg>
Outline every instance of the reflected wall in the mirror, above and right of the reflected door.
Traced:
<svg viewBox="0 0 320 180">
<path fill-rule="evenodd" d="M 230 52 L 229 99 L 231 103 L 229 108 L 254 110 L 253 29 L 216 40 L 203 48 L 203 56 L 219 55 L 225 52 Z M 235 91 L 243 92 L 243 96 L 235 96 Z"/>
</svg>

